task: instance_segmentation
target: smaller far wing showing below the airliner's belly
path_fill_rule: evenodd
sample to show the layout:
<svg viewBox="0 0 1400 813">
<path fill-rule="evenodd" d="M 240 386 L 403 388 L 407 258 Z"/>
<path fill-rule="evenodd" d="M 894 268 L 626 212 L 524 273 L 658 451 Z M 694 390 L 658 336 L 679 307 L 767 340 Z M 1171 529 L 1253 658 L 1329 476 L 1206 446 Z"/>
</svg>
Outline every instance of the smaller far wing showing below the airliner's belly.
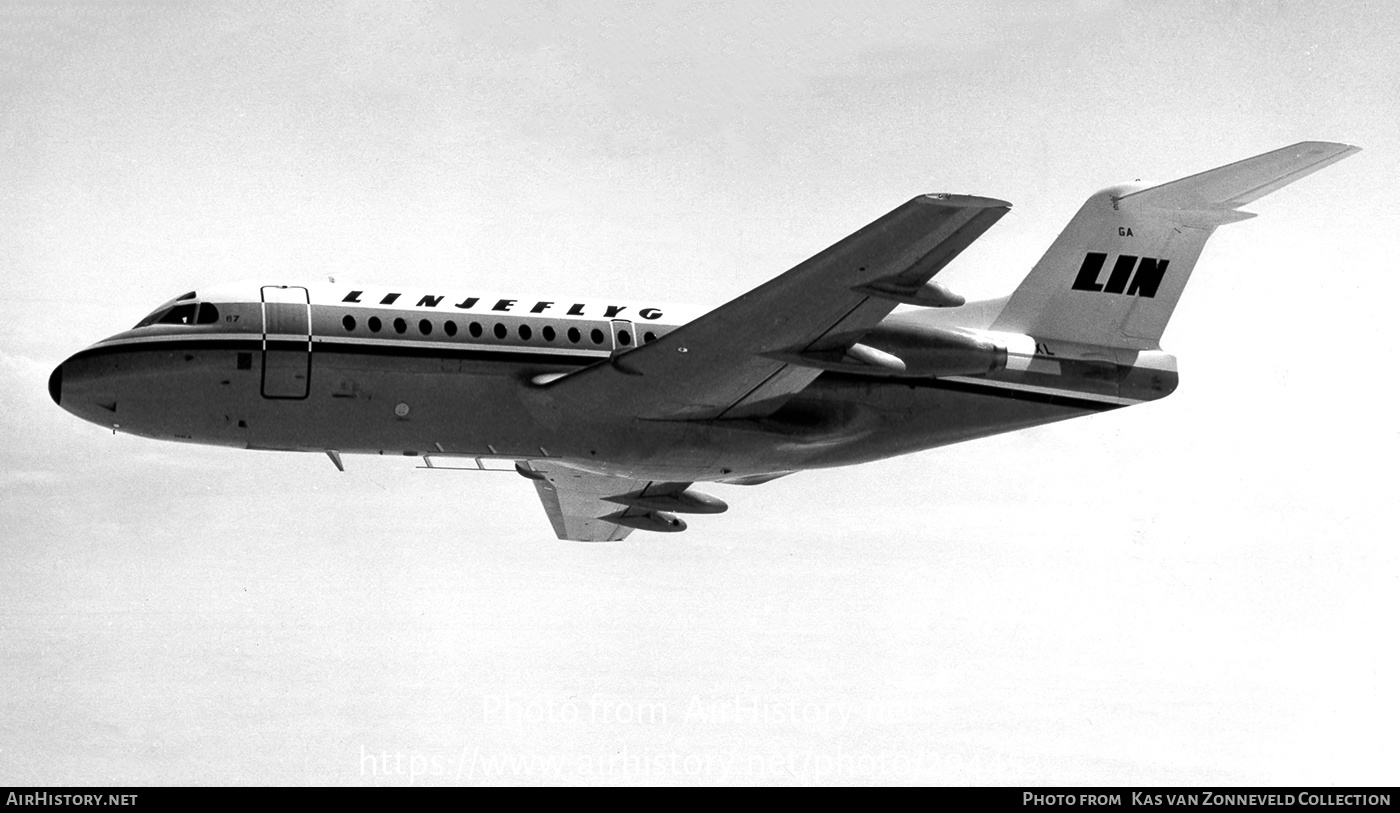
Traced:
<svg viewBox="0 0 1400 813">
<path fill-rule="evenodd" d="M 690 483 L 609 477 L 539 460 L 517 463 L 515 470 L 535 483 L 539 501 L 559 539 L 617 542 L 634 529 L 673 532 L 686 528 L 675 516 L 627 505 L 624 501 L 637 501 L 638 497 L 664 500 L 685 491 Z"/>
</svg>

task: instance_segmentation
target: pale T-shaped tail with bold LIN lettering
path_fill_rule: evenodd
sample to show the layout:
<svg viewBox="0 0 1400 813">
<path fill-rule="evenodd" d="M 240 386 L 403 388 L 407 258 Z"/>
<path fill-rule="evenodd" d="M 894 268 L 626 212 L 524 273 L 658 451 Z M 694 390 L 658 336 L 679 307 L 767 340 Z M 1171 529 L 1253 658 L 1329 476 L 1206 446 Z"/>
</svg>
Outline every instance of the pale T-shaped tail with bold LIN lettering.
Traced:
<svg viewBox="0 0 1400 813">
<path fill-rule="evenodd" d="M 1095 193 L 1011 295 L 993 330 L 1149 351 L 1215 227 L 1275 189 L 1357 153 L 1302 141 L 1161 186 Z"/>
</svg>

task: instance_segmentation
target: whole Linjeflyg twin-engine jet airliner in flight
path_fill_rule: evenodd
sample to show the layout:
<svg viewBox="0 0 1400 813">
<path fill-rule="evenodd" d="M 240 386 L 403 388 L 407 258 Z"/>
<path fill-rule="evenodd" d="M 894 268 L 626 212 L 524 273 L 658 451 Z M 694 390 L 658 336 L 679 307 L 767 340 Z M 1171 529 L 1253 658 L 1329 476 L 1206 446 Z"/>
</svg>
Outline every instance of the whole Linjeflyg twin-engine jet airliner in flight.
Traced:
<svg viewBox="0 0 1400 813">
<path fill-rule="evenodd" d="M 921 195 L 706 311 L 335 283 L 176 297 L 63 361 L 62 409 L 239 449 L 517 472 L 554 533 L 620 540 L 756 486 L 1165 397 L 1159 339 L 1217 227 L 1358 148 L 1302 141 L 1093 193 L 1008 297 L 934 281 L 1011 204 Z M 897 306 L 914 306 L 900 309 Z"/>
</svg>

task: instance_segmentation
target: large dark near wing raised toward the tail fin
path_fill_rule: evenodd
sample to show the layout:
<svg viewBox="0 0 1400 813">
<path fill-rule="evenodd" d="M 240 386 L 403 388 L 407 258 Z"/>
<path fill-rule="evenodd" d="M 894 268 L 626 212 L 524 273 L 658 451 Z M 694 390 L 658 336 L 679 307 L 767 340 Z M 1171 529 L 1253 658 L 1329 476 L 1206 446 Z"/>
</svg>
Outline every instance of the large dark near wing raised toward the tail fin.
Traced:
<svg viewBox="0 0 1400 813">
<path fill-rule="evenodd" d="M 640 418 L 769 414 L 820 375 L 797 355 L 844 353 L 900 302 L 963 304 L 930 278 L 1009 208 L 988 197 L 918 196 L 694 322 L 543 389 L 559 404 Z"/>
</svg>

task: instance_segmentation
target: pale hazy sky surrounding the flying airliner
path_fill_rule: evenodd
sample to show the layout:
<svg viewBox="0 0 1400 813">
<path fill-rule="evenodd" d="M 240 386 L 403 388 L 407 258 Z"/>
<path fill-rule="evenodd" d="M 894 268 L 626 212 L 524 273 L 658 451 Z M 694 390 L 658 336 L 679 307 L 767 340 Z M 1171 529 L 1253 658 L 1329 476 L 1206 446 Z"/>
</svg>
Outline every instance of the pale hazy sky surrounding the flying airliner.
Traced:
<svg viewBox="0 0 1400 813">
<path fill-rule="evenodd" d="M 0 781 L 1394 784 L 1397 22 L 0 6 Z M 1015 204 L 939 277 L 998 295 L 1093 190 L 1308 139 L 1365 151 L 1217 232 L 1172 397 L 708 488 L 680 536 L 45 390 L 200 285 L 718 305 L 923 192 Z"/>
</svg>

